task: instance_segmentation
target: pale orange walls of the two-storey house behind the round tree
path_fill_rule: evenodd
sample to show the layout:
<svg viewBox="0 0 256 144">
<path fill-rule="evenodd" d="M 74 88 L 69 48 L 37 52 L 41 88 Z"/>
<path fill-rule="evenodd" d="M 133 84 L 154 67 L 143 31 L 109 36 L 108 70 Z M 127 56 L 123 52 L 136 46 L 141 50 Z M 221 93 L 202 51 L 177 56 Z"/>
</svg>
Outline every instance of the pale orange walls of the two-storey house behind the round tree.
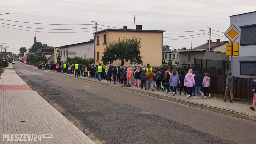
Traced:
<svg viewBox="0 0 256 144">
<path fill-rule="evenodd" d="M 106 44 L 103 44 L 103 35 L 106 32 L 95 34 L 95 64 L 102 64 L 101 58 L 103 56 L 104 48 Z M 97 45 L 97 36 L 100 36 L 100 43 Z M 107 31 L 107 42 L 111 42 L 120 38 L 140 38 L 142 47 L 140 48 L 143 64 L 140 66 L 160 66 L 162 65 L 162 48 L 163 48 L 163 33 L 161 32 L 129 32 L 129 31 Z M 97 61 L 97 53 L 99 52 L 100 58 Z M 121 60 L 114 61 L 112 65 L 120 65 Z M 131 65 L 129 61 L 124 65 Z M 132 64 L 136 66 L 135 64 Z"/>
</svg>

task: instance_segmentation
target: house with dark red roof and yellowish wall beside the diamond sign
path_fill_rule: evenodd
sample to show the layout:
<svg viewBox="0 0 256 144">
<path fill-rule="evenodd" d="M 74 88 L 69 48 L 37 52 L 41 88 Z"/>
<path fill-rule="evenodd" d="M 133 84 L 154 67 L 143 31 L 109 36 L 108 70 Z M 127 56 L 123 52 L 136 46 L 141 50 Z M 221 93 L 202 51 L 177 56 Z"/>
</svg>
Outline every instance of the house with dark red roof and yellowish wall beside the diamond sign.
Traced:
<svg viewBox="0 0 256 144">
<path fill-rule="evenodd" d="M 228 43 L 228 41 L 221 42 L 220 39 L 216 39 L 216 42 L 213 42 L 213 43 L 211 42 L 210 50 L 226 52 L 226 43 Z M 208 49 L 209 50 L 209 40 L 207 41 L 206 44 L 200 45 L 194 49 Z"/>
</svg>

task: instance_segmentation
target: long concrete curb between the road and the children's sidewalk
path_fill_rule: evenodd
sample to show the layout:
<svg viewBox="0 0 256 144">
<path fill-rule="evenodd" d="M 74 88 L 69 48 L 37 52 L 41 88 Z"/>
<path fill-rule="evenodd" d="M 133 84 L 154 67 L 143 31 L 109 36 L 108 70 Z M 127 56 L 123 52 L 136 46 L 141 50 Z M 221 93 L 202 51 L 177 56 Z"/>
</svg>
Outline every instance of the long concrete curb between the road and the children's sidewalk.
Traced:
<svg viewBox="0 0 256 144">
<path fill-rule="evenodd" d="M 62 73 L 57 73 L 57 74 L 64 75 Z M 74 76 L 71 76 L 71 75 L 65 75 L 65 76 L 74 77 Z M 75 77 L 75 78 L 96 83 L 94 80 L 91 80 L 89 78 L 88 79 L 83 79 L 83 78 L 80 78 L 80 77 Z M 250 121 L 255 121 L 256 122 L 256 119 L 254 119 L 254 118 L 252 118 L 252 117 L 250 117 L 248 115 L 241 114 L 239 112 L 233 112 L 233 111 L 229 111 L 229 110 L 225 110 L 225 109 L 220 109 L 220 108 L 216 108 L 216 107 L 201 105 L 201 104 L 197 104 L 197 103 L 194 103 L 194 102 L 189 102 L 189 101 L 184 101 L 184 100 L 180 100 L 180 99 L 175 99 L 175 98 L 168 97 L 168 96 L 152 94 L 152 93 L 147 92 L 147 91 L 129 89 L 129 87 L 117 87 L 117 86 L 107 85 L 107 84 L 105 84 L 105 83 L 103 83 L 101 81 L 97 81 L 97 84 L 101 84 L 101 85 L 105 85 L 105 86 L 109 86 L 109 87 L 113 87 L 113 88 L 118 88 L 118 89 L 123 89 L 123 90 L 128 90 L 128 91 L 136 92 L 136 93 L 139 93 L 139 94 L 148 95 L 148 96 L 152 96 L 152 97 L 157 97 L 157 98 L 160 98 L 160 99 L 165 99 L 165 100 L 177 102 L 177 103 L 180 103 L 180 104 L 184 104 L 184 105 L 188 105 L 188 106 L 192 106 L 192 107 L 196 107 L 196 108 L 200 108 L 200 109 L 205 109 L 205 110 L 217 112 L 217 113 L 220 113 L 220 114 L 224 114 L 224 115 L 233 116 L 233 117 L 237 117 L 237 118 L 246 119 L 246 120 L 250 120 Z"/>
</svg>

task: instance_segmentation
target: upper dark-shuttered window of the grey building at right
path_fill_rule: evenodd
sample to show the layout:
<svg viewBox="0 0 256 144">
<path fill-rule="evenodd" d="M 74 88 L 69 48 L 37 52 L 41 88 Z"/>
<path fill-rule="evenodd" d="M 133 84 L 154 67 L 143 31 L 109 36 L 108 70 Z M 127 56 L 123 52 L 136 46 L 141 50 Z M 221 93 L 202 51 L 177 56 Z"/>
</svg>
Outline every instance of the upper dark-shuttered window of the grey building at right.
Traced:
<svg viewBox="0 0 256 144">
<path fill-rule="evenodd" d="M 256 45 L 256 24 L 250 26 L 240 26 L 241 45 Z"/>
</svg>

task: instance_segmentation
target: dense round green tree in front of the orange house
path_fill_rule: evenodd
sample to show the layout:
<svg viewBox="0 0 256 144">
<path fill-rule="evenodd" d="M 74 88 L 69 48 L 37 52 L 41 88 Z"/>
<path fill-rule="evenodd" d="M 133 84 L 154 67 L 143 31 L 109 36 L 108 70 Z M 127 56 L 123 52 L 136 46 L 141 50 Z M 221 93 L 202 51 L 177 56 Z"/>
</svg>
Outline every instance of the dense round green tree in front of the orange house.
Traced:
<svg viewBox="0 0 256 144">
<path fill-rule="evenodd" d="M 117 41 L 109 42 L 104 49 L 104 55 L 102 56 L 103 64 L 113 64 L 115 60 L 121 60 L 121 65 L 124 65 L 124 61 L 130 61 L 130 64 L 143 64 L 142 56 L 140 56 L 140 48 L 142 46 L 141 39 L 133 37 L 119 38 Z"/>
</svg>

